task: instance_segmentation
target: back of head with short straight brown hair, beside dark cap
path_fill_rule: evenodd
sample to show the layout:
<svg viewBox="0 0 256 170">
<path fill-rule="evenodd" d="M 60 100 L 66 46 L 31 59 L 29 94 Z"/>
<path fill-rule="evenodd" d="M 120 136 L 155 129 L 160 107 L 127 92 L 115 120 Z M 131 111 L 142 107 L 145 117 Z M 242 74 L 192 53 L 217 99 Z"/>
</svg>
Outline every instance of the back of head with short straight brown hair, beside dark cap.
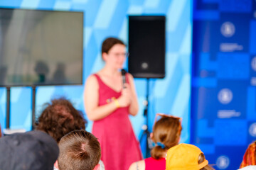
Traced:
<svg viewBox="0 0 256 170">
<path fill-rule="evenodd" d="M 100 161 L 100 142 L 85 130 L 74 130 L 68 133 L 61 138 L 59 147 L 60 170 L 92 170 Z"/>
</svg>

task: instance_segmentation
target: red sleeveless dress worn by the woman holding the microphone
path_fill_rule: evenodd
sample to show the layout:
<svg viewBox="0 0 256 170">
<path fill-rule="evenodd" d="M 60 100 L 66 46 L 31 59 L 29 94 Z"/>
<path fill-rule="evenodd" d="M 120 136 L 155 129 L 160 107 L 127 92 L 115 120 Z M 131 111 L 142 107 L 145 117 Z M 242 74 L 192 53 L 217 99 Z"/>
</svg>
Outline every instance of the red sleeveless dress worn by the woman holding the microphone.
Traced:
<svg viewBox="0 0 256 170">
<path fill-rule="evenodd" d="M 99 84 L 99 106 L 107 104 L 112 97 L 121 96 L 121 91 L 114 91 L 97 74 L 94 75 Z M 95 121 L 92 125 L 92 134 L 100 142 L 102 162 L 106 170 L 127 170 L 133 162 L 142 159 L 139 142 L 129 120 L 128 107 L 117 108 L 107 117 Z"/>
</svg>

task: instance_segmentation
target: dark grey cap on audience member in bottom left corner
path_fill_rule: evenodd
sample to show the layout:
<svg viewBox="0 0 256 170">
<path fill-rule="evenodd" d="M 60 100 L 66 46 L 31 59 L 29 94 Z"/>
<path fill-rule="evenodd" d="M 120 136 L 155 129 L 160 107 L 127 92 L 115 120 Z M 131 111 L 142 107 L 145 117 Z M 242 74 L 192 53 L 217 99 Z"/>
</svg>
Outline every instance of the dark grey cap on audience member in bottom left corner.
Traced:
<svg viewBox="0 0 256 170">
<path fill-rule="evenodd" d="M 53 170 L 58 145 L 45 132 L 14 133 L 0 139 L 0 169 Z"/>
</svg>

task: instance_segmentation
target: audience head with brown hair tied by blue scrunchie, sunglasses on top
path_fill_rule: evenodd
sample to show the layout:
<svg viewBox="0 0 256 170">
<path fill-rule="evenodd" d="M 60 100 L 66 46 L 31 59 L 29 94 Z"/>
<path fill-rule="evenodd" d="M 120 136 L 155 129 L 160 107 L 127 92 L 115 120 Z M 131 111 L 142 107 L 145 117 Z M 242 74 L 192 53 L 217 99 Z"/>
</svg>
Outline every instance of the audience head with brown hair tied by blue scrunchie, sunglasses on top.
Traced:
<svg viewBox="0 0 256 170">
<path fill-rule="evenodd" d="M 166 150 L 178 145 L 181 135 L 181 118 L 171 115 L 161 115 L 161 118 L 156 121 L 153 127 L 152 141 L 155 146 L 151 149 L 151 157 L 160 159 L 166 154 Z"/>
</svg>

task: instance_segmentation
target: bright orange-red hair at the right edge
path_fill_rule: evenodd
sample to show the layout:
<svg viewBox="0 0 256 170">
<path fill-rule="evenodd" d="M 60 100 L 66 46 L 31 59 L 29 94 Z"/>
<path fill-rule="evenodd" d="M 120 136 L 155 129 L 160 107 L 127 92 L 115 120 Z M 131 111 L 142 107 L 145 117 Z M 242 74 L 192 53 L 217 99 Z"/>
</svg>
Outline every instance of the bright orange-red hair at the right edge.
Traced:
<svg viewBox="0 0 256 170">
<path fill-rule="evenodd" d="M 256 165 L 256 141 L 252 142 L 245 151 L 240 168 Z"/>
</svg>

